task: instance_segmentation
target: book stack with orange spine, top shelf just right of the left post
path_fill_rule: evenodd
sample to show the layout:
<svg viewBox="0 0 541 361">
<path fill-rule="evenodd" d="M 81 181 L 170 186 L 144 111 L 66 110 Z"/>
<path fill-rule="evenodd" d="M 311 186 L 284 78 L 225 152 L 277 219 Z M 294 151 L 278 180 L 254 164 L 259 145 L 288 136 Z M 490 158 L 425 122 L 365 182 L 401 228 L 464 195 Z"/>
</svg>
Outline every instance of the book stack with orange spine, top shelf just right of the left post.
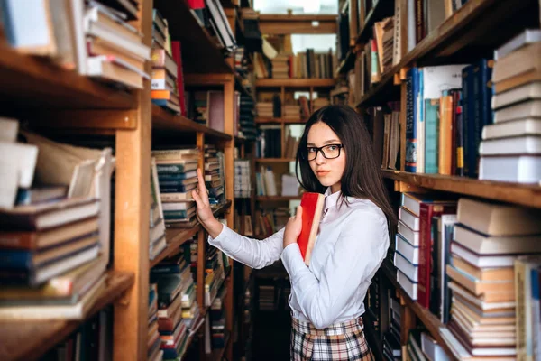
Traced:
<svg viewBox="0 0 541 361">
<path fill-rule="evenodd" d="M 173 60 L 167 21 L 156 9 L 152 17 L 152 103 L 179 114 L 179 69 L 177 62 Z M 178 42 L 175 44 L 179 46 Z"/>
</svg>

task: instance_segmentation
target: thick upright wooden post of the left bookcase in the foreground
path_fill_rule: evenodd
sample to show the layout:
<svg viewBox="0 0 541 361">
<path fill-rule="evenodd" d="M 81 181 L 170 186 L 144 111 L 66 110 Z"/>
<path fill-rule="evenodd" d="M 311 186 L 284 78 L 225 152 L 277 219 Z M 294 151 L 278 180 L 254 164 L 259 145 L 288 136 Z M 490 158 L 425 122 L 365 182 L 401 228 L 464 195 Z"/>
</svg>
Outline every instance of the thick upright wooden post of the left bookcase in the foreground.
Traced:
<svg viewBox="0 0 541 361">
<path fill-rule="evenodd" d="M 143 43 L 151 45 L 152 2 L 143 1 L 139 18 Z M 151 73 L 151 62 L 145 64 Z M 137 127 L 116 132 L 115 271 L 132 272 L 135 283 L 126 302 L 115 304 L 115 361 L 147 358 L 149 310 L 149 229 L 151 191 L 151 82 L 138 94 Z"/>
</svg>

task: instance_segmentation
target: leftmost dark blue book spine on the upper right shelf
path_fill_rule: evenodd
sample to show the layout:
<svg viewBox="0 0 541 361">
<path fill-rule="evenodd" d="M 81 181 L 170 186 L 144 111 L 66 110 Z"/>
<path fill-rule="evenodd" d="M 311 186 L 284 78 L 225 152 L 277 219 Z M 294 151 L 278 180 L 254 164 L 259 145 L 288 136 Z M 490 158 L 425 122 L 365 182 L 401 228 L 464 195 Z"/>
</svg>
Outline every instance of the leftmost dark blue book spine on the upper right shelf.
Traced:
<svg viewBox="0 0 541 361">
<path fill-rule="evenodd" d="M 417 106 L 416 94 L 419 87 L 417 68 L 408 70 L 406 79 L 406 171 L 417 171 Z"/>
</svg>

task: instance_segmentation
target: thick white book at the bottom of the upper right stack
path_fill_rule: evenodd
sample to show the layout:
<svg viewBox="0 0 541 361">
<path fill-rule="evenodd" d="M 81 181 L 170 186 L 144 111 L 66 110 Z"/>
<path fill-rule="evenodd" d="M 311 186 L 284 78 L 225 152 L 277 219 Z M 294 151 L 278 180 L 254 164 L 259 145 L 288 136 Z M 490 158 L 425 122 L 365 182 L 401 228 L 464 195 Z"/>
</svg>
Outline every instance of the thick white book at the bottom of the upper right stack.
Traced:
<svg viewBox="0 0 541 361">
<path fill-rule="evenodd" d="M 479 179 L 538 183 L 541 180 L 541 156 L 481 157 Z"/>
</svg>

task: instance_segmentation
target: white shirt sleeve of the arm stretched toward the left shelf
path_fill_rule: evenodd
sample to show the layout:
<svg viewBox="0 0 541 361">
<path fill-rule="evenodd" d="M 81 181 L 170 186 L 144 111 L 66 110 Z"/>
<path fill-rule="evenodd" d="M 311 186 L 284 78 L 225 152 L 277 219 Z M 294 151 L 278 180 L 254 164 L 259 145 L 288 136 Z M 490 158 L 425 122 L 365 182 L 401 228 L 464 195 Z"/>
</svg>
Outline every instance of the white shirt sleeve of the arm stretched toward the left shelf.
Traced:
<svg viewBox="0 0 541 361">
<path fill-rule="evenodd" d="M 221 249 L 225 255 L 252 268 L 263 268 L 280 259 L 283 250 L 284 229 L 263 240 L 241 236 L 224 226 L 222 232 L 208 243 Z"/>
</svg>

